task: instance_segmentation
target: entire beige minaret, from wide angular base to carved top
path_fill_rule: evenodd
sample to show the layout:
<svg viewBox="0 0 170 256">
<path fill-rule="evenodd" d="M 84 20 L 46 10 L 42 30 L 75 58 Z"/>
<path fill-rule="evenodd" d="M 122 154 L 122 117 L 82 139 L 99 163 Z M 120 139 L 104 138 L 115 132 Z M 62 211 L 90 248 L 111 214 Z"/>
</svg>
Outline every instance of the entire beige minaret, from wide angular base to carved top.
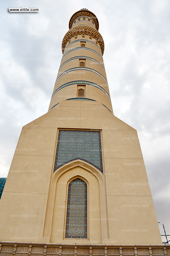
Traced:
<svg viewBox="0 0 170 256">
<path fill-rule="evenodd" d="M 98 28 L 91 11 L 73 14 L 49 111 L 22 128 L 2 186 L 1 253 L 165 255 L 137 132 L 112 111 Z"/>
</svg>

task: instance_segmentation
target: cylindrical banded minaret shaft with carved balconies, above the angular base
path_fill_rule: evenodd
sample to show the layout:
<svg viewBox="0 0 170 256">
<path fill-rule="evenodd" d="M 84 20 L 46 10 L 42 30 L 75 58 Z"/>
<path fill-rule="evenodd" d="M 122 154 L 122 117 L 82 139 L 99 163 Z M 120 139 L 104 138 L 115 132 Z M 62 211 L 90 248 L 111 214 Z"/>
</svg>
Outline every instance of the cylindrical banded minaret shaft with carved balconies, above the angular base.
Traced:
<svg viewBox="0 0 170 256">
<path fill-rule="evenodd" d="M 112 112 L 103 62 L 104 42 L 97 17 L 86 9 L 70 19 L 49 110 L 62 100 L 99 101 Z"/>
</svg>

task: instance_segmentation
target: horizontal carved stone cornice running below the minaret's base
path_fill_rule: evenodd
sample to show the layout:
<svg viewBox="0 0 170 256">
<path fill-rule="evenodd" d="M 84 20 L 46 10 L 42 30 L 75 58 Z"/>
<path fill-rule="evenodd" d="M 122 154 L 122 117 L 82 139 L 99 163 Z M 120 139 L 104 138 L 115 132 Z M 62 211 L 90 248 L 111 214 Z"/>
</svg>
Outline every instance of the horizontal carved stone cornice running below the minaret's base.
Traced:
<svg viewBox="0 0 170 256">
<path fill-rule="evenodd" d="M 75 246 L 76 245 L 76 246 Z M 0 242 L 0 256 L 170 256 L 170 245 L 90 245 Z M 149 250 L 152 254 L 149 254 Z M 166 253 L 167 252 L 167 253 Z"/>
</svg>

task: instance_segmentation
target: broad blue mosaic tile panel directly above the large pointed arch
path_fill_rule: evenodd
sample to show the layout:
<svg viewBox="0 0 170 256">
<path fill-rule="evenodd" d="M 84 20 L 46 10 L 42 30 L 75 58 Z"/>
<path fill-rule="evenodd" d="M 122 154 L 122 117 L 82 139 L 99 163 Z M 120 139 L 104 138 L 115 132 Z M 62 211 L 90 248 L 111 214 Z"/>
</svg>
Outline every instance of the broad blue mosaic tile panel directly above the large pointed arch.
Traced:
<svg viewBox="0 0 170 256">
<path fill-rule="evenodd" d="M 59 130 L 54 172 L 77 159 L 93 165 L 103 173 L 100 131 Z"/>
</svg>

